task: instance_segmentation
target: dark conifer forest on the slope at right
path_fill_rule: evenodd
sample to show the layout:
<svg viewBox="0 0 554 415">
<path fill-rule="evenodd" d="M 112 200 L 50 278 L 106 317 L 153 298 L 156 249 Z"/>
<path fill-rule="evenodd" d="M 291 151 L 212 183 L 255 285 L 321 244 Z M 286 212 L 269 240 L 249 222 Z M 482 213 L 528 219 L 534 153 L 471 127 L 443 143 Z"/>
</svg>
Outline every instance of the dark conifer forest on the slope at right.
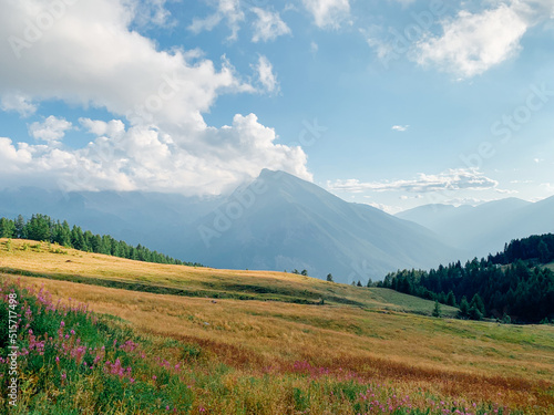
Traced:
<svg viewBox="0 0 554 415">
<path fill-rule="evenodd" d="M 517 239 L 486 259 L 430 271 L 391 272 L 378 287 L 459 307 L 462 318 L 537 323 L 554 320 L 554 235 Z"/>
</svg>

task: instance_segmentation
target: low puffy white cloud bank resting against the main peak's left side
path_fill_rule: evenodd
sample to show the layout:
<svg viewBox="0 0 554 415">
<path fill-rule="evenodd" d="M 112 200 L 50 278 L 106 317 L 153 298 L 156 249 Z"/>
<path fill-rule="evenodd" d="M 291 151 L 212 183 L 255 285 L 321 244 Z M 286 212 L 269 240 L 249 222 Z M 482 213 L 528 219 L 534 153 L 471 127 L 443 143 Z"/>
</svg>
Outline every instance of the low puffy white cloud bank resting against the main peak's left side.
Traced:
<svg viewBox="0 0 554 415">
<path fill-rule="evenodd" d="M 196 132 L 194 146 L 158 128 L 83 118 L 96 137 L 79 149 L 14 145 L 0 138 L 2 172 L 40 178 L 64 190 L 115 189 L 219 194 L 255 177 L 264 167 L 311 180 L 300 147 L 276 144 L 273 128 L 256 115 L 235 115 L 233 124 Z M 18 148 L 19 147 L 19 148 Z M 2 175 L 4 176 L 4 175 Z"/>
</svg>

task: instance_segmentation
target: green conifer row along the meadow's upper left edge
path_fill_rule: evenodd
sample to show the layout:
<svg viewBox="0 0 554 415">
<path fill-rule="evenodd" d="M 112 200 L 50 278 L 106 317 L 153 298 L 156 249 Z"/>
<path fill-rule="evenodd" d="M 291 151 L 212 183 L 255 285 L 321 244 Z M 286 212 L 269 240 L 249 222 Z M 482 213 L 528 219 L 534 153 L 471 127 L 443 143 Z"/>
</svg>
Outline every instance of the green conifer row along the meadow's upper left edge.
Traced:
<svg viewBox="0 0 554 415">
<path fill-rule="evenodd" d="M 33 215 L 25 220 L 19 215 L 16 219 L 0 218 L 0 238 L 31 239 L 58 243 L 65 248 L 81 251 L 104 253 L 119 258 L 133 259 L 144 262 L 170 263 L 189 267 L 203 267 L 197 262 L 185 262 L 174 259 L 138 243 L 133 247 L 123 240 L 115 240 L 109 235 L 94 235 L 90 230 L 82 230 L 74 225 L 70 227 L 66 220 L 53 220 L 47 215 Z"/>
</svg>

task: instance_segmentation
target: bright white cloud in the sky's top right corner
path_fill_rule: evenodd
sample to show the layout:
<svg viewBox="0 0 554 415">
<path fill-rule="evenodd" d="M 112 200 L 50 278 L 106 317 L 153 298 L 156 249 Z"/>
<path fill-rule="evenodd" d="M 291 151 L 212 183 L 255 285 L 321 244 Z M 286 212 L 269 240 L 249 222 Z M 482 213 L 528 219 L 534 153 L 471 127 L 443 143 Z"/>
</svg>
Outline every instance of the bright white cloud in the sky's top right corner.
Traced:
<svg viewBox="0 0 554 415">
<path fill-rule="evenodd" d="M 443 34 L 418 42 L 416 60 L 462 79 L 472 77 L 509 60 L 521 50 L 525 32 L 552 10 L 551 1 L 513 0 L 481 13 L 462 10 L 442 22 Z M 548 15 L 548 14 L 546 14 Z"/>
</svg>

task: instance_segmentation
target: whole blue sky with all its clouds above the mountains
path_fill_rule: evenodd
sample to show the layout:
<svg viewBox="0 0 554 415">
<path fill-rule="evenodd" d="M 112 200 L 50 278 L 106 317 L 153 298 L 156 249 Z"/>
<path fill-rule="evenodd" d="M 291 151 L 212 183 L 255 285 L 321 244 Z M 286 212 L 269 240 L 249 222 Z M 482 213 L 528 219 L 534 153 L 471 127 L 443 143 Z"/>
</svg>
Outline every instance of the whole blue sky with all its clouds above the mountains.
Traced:
<svg viewBox="0 0 554 415">
<path fill-rule="evenodd" d="M 0 187 L 554 195 L 553 0 L 0 0 Z"/>
</svg>

